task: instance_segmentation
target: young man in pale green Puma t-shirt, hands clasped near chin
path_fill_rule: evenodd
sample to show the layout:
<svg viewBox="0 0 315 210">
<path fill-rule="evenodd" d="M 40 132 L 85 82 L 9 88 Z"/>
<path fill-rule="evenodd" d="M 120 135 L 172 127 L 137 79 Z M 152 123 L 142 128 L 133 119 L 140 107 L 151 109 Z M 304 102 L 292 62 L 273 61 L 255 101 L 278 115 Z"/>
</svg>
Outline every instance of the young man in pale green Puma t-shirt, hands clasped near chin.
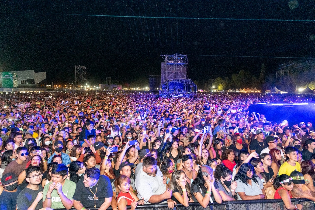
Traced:
<svg viewBox="0 0 315 210">
<path fill-rule="evenodd" d="M 51 169 L 51 181 L 43 190 L 43 207 L 52 209 L 73 206 L 73 194 L 76 184 L 67 179 L 68 168 L 64 164 L 58 164 Z"/>
</svg>

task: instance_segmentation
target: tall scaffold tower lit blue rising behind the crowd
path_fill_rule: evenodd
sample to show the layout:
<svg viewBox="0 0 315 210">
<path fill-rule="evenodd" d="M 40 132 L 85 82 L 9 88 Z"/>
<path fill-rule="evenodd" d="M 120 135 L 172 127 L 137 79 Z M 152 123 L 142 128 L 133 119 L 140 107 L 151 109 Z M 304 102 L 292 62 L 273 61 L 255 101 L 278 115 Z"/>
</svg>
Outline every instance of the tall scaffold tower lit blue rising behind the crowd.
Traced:
<svg viewBox="0 0 315 210">
<path fill-rule="evenodd" d="M 186 55 L 161 55 L 160 97 L 197 96 L 197 86 L 188 78 L 188 59 Z"/>
</svg>

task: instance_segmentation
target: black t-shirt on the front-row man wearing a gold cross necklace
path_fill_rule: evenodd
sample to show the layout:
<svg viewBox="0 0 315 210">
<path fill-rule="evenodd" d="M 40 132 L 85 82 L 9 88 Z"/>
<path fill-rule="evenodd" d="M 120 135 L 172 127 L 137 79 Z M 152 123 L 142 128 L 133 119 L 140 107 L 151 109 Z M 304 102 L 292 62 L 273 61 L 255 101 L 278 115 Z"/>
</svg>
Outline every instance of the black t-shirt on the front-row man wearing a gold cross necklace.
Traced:
<svg viewBox="0 0 315 210">
<path fill-rule="evenodd" d="M 98 180 L 98 184 L 95 184 L 92 188 L 84 187 L 83 183 L 84 179 L 80 179 L 77 183 L 76 190 L 73 194 L 73 200 L 81 201 L 82 205 L 86 208 L 94 208 L 94 198 L 93 193 L 96 191 L 96 197 L 98 200 L 95 200 L 96 208 L 99 208 L 105 201 L 105 198 L 110 198 L 113 196 L 113 189 L 111 181 L 107 176 L 100 175 L 100 179 Z"/>
</svg>

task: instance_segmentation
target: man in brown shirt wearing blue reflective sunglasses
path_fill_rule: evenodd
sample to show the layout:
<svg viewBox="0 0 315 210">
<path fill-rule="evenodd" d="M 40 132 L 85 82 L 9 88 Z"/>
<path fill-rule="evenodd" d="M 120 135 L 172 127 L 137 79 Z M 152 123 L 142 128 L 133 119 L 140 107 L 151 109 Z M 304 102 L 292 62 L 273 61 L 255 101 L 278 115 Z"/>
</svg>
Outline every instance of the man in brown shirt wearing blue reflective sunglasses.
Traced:
<svg viewBox="0 0 315 210">
<path fill-rule="evenodd" d="M 4 169 L 3 174 L 14 173 L 17 177 L 26 168 L 27 162 L 31 159 L 28 157 L 28 152 L 25 147 L 18 147 L 15 151 L 16 160 L 9 163 L 9 165 Z"/>
</svg>

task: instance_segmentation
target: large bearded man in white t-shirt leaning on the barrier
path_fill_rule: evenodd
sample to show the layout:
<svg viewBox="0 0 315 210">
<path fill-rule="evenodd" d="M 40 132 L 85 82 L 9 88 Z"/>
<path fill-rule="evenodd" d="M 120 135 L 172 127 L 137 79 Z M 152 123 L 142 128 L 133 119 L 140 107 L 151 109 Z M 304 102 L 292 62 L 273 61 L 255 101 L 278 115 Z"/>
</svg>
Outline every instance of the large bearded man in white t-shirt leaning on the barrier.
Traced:
<svg viewBox="0 0 315 210">
<path fill-rule="evenodd" d="M 143 159 L 142 170 L 136 176 L 135 185 L 138 198 L 143 197 L 145 204 L 166 203 L 169 199 L 169 208 L 174 207 L 174 201 L 170 200 L 172 190 L 163 184 L 163 174 L 157 167 L 157 161 L 154 157 L 148 156 Z"/>
</svg>

